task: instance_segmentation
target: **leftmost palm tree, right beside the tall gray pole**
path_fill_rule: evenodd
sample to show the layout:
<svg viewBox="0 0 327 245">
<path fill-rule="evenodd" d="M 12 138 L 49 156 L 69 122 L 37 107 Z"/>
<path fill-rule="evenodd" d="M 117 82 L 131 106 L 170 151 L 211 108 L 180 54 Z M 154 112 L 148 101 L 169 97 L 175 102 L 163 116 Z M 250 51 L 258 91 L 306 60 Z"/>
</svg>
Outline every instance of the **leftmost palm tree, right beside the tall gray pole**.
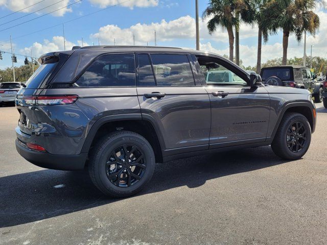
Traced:
<svg viewBox="0 0 327 245">
<path fill-rule="evenodd" d="M 211 0 L 209 6 L 204 10 L 202 18 L 209 17 L 207 28 L 212 34 L 217 27 L 227 30 L 229 39 L 229 60 L 234 58 L 234 40 L 233 28 L 239 29 L 240 18 L 238 13 L 245 14 L 247 6 L 243 0 Z M 239 57 L 238 57 L 239 58 Z"/>
</svg>

